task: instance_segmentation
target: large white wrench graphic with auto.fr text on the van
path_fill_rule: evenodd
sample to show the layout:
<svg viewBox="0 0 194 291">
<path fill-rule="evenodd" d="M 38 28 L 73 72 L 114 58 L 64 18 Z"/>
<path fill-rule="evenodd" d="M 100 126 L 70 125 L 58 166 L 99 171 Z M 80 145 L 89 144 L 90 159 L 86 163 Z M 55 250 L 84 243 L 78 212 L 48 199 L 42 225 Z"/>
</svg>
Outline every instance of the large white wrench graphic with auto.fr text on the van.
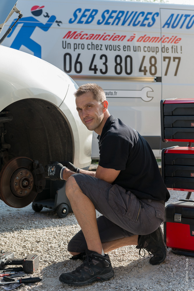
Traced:
<svg viewBox="0 0 194 291">
<path fill-rule="evenodd" d="M 107 98 L 141 98 L 145 102 L 154 98 L 147 96 L 148 92 L 153 92 L 150 87 L 143 87 L 141 90 L 104 90 L 104 92 Z"/>
</svg>

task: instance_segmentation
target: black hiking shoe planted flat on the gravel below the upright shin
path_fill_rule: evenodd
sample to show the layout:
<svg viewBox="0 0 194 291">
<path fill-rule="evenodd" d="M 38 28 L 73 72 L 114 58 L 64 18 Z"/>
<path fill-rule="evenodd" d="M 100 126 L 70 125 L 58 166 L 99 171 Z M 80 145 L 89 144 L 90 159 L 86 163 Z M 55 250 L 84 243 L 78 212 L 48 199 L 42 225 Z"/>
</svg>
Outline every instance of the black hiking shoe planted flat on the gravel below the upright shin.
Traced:
<svg viewBox="0 0 194 291">
<path fill-rule="evenodd" d="M 108 255 L 86 250 L 83 264 L 70 273 L 61 274 L 59 281 L 69 285 L 87 285 L 94 281 L 106 281 L 114 276 Z"/>
</svg>

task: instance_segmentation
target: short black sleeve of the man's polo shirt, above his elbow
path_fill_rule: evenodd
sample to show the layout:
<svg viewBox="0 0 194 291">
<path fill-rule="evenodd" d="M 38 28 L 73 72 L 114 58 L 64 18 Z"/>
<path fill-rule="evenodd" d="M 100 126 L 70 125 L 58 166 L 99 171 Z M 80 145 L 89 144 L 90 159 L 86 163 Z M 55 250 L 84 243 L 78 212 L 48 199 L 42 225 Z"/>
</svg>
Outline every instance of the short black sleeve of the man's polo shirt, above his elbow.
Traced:
<svg viewBox="0 0 194 291">
<path fill-rule="evenodd" d="M 131 143 L 119 136 L 106 136 L 99 146 L 99 166 L 117 171 L 125 170 Z"/>
</svg>

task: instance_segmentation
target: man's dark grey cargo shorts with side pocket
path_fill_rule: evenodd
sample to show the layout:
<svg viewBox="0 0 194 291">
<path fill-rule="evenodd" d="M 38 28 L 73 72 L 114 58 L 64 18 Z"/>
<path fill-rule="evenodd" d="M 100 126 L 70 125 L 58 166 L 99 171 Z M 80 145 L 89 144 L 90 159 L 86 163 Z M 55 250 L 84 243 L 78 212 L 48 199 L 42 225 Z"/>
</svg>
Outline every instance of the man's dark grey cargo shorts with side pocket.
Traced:
<svg viewBox="0 0 194 291">
<path fill-rule="evenodd" d="M 97 218 L 102 243 L 152 233 L 164 222 L 164 201 L 139 200 L 131 191 L 86 174 L 72 176 L 95 209 L 102 214 Z M 86 249 L 86 240 L 80 230 L 70 240 L 67 250 L 83 252 Z"/>
</svg>

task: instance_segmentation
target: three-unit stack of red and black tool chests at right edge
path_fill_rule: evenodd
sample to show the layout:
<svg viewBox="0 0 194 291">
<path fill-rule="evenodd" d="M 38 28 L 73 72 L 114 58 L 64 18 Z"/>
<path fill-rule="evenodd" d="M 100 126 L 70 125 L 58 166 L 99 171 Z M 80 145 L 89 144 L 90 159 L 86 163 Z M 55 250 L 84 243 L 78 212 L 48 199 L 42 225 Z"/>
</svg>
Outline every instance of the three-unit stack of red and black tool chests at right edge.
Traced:
<svg viewBox="0 0 194 291">
<path fill-rule="evenodd" d="M 161 100 L 163 142 L 187 141 L 187 147 L 162 150 L 162 177 L 169 190 L 188 191 L 165 207 L 164 240 L 173 253 L 194 257 L 194 98 Z"/>
</svg>

